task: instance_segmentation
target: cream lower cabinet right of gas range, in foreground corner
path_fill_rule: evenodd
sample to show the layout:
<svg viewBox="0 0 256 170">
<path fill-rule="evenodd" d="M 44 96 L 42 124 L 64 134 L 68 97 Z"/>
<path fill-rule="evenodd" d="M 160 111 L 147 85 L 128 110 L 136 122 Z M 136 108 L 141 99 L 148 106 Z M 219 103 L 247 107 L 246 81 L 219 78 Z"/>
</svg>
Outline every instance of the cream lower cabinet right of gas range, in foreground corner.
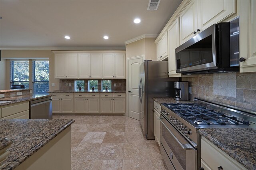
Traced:
<svg viewBox="0 0 256 170">
<path fill-rule="evenodd" d="M 222 166 L 222 168 L 220 168 Z M 246 170 L 244 166 L 202 136 L 201 167 L 204 170 Z"/>
</svg>

